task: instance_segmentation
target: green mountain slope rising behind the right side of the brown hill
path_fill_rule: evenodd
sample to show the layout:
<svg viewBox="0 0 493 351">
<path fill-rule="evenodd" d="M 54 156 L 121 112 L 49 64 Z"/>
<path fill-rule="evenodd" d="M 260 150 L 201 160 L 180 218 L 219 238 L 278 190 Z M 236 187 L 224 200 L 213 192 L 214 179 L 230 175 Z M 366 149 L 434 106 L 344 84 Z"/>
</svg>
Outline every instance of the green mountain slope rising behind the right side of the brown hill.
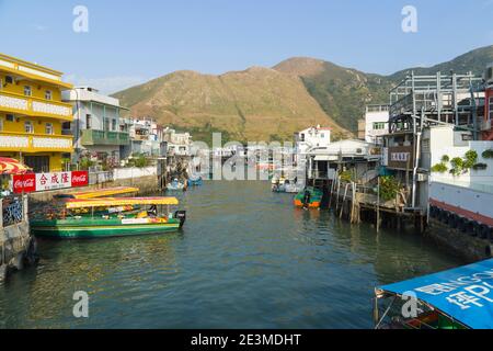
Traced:
<svg viewBox="0 0 493 351">
<path fill-rule="evenodd" d="M 309 57 L 295 57 L 274 67 L 280 72 L 298 76 L 320 106 L 342 127 L 357 131 L 368 103 L 387 103 L 392 82 L 383 76 Z"/>
</svg>

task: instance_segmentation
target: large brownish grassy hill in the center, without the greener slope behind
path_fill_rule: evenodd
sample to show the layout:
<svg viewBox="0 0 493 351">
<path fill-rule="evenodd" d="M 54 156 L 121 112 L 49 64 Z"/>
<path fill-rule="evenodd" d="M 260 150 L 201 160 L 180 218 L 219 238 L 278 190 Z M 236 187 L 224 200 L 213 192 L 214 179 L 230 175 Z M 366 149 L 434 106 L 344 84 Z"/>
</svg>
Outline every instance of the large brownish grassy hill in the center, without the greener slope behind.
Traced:
<svg viewBox="0 0 493 351">
<path fill-rule="evenodd" d="M 133 115 L 187 129 L 209 141 L 210 132 L 239 141 L 291 140 L 293 133 L 320 124 L 349 136 L 330 118 L 297 76 L 252 67 L 220 76 L 176 71 L 114 94 Z"/>
</svg>

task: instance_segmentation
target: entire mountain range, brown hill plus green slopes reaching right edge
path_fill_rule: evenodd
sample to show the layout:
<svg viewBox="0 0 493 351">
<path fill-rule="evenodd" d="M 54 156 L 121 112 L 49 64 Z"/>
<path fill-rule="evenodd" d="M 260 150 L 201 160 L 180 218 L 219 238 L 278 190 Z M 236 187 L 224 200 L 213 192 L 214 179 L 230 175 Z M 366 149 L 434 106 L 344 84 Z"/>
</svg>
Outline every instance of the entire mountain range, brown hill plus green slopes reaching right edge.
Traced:
<svg viewBox="0 0 493 351">
<path fill-rule="evenodd" d="M 152 115 L 161 123 L 210 140 L 280 140 L 310 125 L 333 128 L 335 138 L 357 131 L 366 104 L 388 103 L 389 90 L 405 75 L 437 71 L 482 75 L 493 63 L 493 46 L 481 47 L 433 67 L 390 76 L 363 72 L 321 59 L 294 57 L 273 68 L 211 76 L 176 71 L 114 94 L 133 115 Z"/>
</svg>

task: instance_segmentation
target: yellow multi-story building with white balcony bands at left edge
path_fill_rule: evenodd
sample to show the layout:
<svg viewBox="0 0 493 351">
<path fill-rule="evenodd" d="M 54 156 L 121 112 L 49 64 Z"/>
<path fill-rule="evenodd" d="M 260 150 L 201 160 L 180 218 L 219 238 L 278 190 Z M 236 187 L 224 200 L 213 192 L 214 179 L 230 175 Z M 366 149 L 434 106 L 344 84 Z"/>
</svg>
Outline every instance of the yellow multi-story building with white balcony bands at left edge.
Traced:
<svg viewBox="0 0 493 351">
<path fill-rule="evenodd" d="M 0 157 L 21 160 L 35 172 L 64 170 L 72 152 L 72 106 L 61 91 L 62 73 L 0 54 Z"/>
</svg>

